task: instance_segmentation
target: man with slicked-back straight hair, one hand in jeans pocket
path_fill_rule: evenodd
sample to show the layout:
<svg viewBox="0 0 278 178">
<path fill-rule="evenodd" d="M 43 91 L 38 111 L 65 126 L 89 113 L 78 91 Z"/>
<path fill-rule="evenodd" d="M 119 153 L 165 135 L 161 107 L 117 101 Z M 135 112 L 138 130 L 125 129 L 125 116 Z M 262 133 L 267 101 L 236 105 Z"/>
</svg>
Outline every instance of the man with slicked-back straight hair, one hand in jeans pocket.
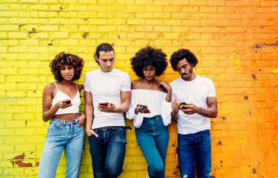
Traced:
<svg viewBox="0 0 278 178">
<path fill-rule="evenodd" d="M 113 68 L 111 44 L 99 44 L 95 54 L 99 69 L 84 76 L 85 132 L 90 143 L 95 178 L 117 177 L 122 172 L 126 147 L 123 113 L 129 108 L 131 79 Z"/>
</svg>

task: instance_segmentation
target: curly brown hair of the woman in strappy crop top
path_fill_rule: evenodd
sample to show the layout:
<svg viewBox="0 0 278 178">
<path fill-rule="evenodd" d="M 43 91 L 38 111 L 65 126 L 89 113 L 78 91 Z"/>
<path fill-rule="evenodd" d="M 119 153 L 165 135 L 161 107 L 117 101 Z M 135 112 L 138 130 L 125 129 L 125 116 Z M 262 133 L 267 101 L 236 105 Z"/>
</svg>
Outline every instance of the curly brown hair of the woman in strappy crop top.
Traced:
<svg viewBox="0 0 278 178">
<path fill-rule="evenodd" d="M 83 64 L 83 58 L 75 56 L 74 54 L 65 54 L 65 52 L 61 52 L 50 62 L 49 67 L 51 68 L 51 72 L 54 74 L 56 81 L 63 81 L 63 77 L 60 74 L 60 68 L 64 65 L 72 65 L 72 67 L 74 67 L 74 77 L 72 78 L 72 81 L 76 81 L 80 79 Z"/>
</svg>

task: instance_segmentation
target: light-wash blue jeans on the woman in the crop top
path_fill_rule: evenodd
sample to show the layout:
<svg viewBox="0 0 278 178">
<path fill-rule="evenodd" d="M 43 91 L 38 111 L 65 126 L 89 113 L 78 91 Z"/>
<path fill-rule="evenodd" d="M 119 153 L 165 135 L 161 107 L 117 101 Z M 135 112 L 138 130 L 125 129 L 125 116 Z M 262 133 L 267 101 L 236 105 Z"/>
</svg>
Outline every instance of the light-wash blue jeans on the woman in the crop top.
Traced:
<svg viewBox="0 0 278 178">
<path fill-rule="evenodd" d="M 65 149 L 65 177 L 78 177 L 81 165 L 84 131 L 76 120 L 52 119 L 47 129 L 47 138 L 40 157 L 38 177 L 55 177 L 60 156 Z"/>
</svg>

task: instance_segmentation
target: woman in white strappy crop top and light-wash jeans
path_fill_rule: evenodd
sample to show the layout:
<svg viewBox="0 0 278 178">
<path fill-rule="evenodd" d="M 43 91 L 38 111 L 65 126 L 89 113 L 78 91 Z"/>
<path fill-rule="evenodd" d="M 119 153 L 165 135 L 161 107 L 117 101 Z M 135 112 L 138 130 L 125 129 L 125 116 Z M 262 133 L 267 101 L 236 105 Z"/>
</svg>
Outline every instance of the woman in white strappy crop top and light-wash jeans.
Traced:
<svg viewBox="0 0 278 178">
<path fill-rule="evenodd" d="M 65 177 L 78 177 L 83 152 L 85 115 L 79 113 L 83 59 L 64 52 L 49 64 L 56 82 L 48 83 L 42 93 L 42 120 L 49 123 L 38 177 L 55 177 L 65 149 Z"/>
</svg>

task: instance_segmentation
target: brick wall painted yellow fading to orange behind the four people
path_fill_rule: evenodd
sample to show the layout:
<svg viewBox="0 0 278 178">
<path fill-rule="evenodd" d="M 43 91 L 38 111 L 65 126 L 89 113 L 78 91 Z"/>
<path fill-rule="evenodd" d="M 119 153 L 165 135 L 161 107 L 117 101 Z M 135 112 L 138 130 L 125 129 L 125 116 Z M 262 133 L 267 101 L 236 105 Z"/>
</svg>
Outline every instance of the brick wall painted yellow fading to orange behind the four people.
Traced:
<svg viewBox="0 0 278 178">
<path fill-rule="evenodd" d="M 54 81 L 60 51 L 96 69 L 95 48 L 114 45 L 115 67 L 146 45 L 188 48 L 195 73 L 213 79 L 218 118 L 211 119 L 213 177 L 278 177 L 278 1 L 275 0 L 4 0 L 0 3 L 0 177 L 36 177 L 48 123 L 42 90 Z M 179 75 L 169 66 L 160 79 Z M 83 78 L 83 77 L 82 77 Z M 82 83 L 83 79 L 79 80 Z M 82 98 L 82 104 L 83 104 Z M 83 105 L 81 106 L 83 111 Z M 146 161 L 126 120 L 120 177 L 145 177 Z M 166 176 L 179 177 L 177 128 L 168 127 Z M 64 177 L 65 158 L 57 177 Z M 88 138 L 80 177 L 92 177 Z"/>
</svg>

